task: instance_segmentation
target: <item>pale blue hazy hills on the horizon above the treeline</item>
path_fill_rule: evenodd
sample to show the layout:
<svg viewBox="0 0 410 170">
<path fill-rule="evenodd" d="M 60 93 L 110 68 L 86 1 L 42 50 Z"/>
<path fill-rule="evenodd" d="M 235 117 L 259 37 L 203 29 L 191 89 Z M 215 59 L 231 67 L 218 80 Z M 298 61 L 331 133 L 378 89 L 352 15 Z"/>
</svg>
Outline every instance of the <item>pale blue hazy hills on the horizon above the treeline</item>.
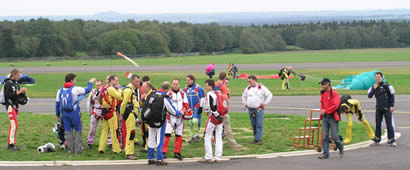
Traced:
<svg viewBox="0 0 410 170">
<path fill-rule="evenodd" d="M 251 24 L 291 24 L 326 21 L 352 20 L 410 20 L 410 9 L 391 10 L 353 10 L 353 11 L 306 11 L 306 12 L 234 12 L 234 13 L 170 13 L 170 14 L 123 14 L 113 11 L 82 16 L 0 16 L 0 20 L 30 20 L 39 17 L 51 20 L 100 20 L 106 22 L 121 22 L 129 19 L 158 20 L 160 22 L 179 22 L 206 24 L 218 23 L 226 25 Z"/>
</svg>

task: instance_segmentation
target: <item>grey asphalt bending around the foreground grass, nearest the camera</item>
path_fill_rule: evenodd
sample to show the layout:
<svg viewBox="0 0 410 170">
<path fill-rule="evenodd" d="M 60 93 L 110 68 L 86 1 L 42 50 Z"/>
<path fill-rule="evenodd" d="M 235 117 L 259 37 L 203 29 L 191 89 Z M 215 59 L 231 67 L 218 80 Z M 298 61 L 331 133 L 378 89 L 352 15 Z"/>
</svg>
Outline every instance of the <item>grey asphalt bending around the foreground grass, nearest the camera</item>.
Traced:
<svg viewBox="0 0 410 170">
<path fill-rule="evenodd" d="M 361 101 L 363 113 L 367 120 L 374 124 L 375 100 L 368 99 L 364 95 L 352 96 Z M 266 114 L 292 114 L 307 116 L 310 109 L 319 108 L 319 96 L 274 96 L 272 102 L 266 108 Z M 23 112 L 53 113 L 55 99 L 32 99 L 28 106 L 22 108 Z M 345 152 L 344 158 L 339 158 L 337 153 L 331 153 L 328 160 L 318 160 L 316 156 L 279 157 L 269 159 L 242 159 L 224 161 L 218 164 L 182 163 L 170 164 L 167 170 L 181 169 L 409 169 L 410 166 L 410 95 L 396 96 L 396 111 L 394 119 L 396 131 L 402 136 L 398 140 L 398 147 L 390 147 L 387 144 L 379 147 L 368 147 Z M 81 106 L 85 108 L 85 106 Z M 4 108 L 0 112 L 4 112 Z M 232 97 L 232 112 L 246 112 L 241 104 L 240 97 Z M 344 116 L 343 116 L 344 118 Z M 363 128 L 355 126 L 353 128 Z M 343 134 L 343 132 L 342 132 Z M 267 139 L 265 139 L 267 140 Z M 318 155 L 319 156 L 319 153 Z M 124 166 L 78 166 L 78 167 L 0 167 L 0 169 L 20 170 L 105 170 L 105 169 L 164 169 L 165 167 L 148 165 L 124 165 Z"/>
</svg>

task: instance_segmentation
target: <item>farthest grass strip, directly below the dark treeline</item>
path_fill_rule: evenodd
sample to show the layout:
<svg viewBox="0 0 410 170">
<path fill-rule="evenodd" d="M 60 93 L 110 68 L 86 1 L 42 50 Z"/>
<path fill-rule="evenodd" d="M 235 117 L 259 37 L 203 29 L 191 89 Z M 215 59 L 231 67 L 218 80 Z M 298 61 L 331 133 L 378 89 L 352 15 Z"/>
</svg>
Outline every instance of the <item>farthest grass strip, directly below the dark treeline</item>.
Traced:
<svg viewBox="0 0 410 170">
<path fill-rule="evenodd" d="M 144 57 L 134 58 L 140 65 L 180 64 L 266 64 L 266 63 L 312 63 L 312 62 L 366 62 L 366 61 L 409 61 L 410 48 L 347 49 L 316 51 L 285 51 L 260 54 L 230 53 L 211 56 Z M 58 60 L 2 62 L 0 67 L 47 67 L 47 66 L 103 66 L 129 65 L 120 57 L 112 60 Z"/>
</svg>

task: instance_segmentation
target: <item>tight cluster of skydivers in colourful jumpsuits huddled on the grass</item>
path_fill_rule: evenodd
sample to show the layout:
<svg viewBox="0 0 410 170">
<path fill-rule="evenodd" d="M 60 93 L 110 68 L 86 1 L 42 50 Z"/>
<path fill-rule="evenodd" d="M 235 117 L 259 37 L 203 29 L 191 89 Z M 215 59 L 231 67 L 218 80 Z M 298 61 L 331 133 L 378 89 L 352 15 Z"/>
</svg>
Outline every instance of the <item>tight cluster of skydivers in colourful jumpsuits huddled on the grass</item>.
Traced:
<svg viewBox="0 0 410 170">
<path fill-rule="evenodd" d="M 83 152 L 79 102 L 90 93 L 87 99 L 88 114 L 91 116 L 87 140 L 89 149 L 94 144 L 98 121 L 101 120 L 103 128 L 98 147 L 101 154 L 105 153 L 108 142 L 114 153 L 120 153 L 124 149 L 126 159 L 137 159 L 134 144 L 138 143 L 136 134 L 139 125 L 144 147 L 142 152 L 148 152 L 148 164 L 167 164 L 163 159 L 169 152 L 168 145 L 174 130 L 174 157 L 183 160 L 181 148 L 184 120 L 189 120 L 187 122 L 191 128 L 189 143 L 200 142 L 199 129 L 203 111 L 210 117 L 206 125 L 208 128 L 213 125 L 217 128 L 217 125 L 222 124 L 227 108 L 222 108 L 226 111 L 221 111 L 223 104 L 218 104 L 217 107 L 217 101 L 224 102 L 228 96 L 215 91 L 215 88 L 225 86 L 226 73 L 223 72 L 222 75 L 223 81 L 215 83 L 208 79 L 205 82 L 205 89 L 208 91 L 205 96 L 204 89 L 196 84 L 195 77 L 191 74 L 186 76 L 187 86 L 184 89 L 180 89 L 179 79 L 173 79 L 171 83 L 163 82 L 161 89 L 156 89 L 148 76 L 144 76 L 141 81 L 135 74 L 126 75 L 130 80 L 126 87 L 119 85 L 118 76 L 109 75 L 105 84 L 92 78 L 87 88 L 82 88 L 75 86 L 76 75 L 68 73 L 56 97 L 57 124 L 60 125 L 56 133 L 61 146 L 70 153 Z M 92 89 L 94 82 L 96 88 Z M 240 147 L 235 140 L 233 142 L 233 148 Z M 154 152 L 157 153 L 156 160 Z"/>
</svg>

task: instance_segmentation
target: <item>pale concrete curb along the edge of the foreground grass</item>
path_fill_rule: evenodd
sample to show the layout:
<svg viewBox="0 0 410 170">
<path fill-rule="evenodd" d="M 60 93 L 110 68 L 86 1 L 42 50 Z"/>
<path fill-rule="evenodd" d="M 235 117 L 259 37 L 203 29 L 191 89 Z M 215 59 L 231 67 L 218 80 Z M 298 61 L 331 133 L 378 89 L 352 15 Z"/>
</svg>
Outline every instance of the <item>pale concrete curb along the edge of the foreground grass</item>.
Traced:
<svg viewBox="0 0 410 170">
<path fill-rule="evenodd" d="M 396 132 L 396 139 L 401 136 L 400 132 Z M 345 146 L 345 151 L 356 150 L 360 148 L 369 147 L 372 141 L 365 141 Z M 387 143 L 387 133 L 382 136 L 381 144 Z M 335 151 L 331 151 L 335 152 Z M 260 155 L 240 155 L 240 156 L 224 156 L 223 161 L 238 160 L 238 159 L 266 159 L 276 157 L 291 157 L 291 156 L 306 156 L 315 155 L 319 152 L 315 150 L 293 151 L 293 152 L 279 152 Z M 183 161 L 177 159 L 167 159 L 168 163 L 189 163 L 197 162 L 202 157 L 186 158 Z M 147 159 L 141 160 L 95 160 L 95 161 L 0 161 L 0 167 L 5 166 L 93 166 L 93 165 L 146 165 Z"/>
</svg>

